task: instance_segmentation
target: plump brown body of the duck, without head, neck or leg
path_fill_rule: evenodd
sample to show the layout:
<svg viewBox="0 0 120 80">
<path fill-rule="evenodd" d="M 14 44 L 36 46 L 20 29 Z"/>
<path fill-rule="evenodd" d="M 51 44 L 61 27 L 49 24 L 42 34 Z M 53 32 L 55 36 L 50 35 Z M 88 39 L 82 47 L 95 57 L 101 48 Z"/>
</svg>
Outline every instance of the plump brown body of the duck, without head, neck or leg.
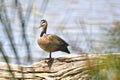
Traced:
<svg viewBox="0 0 120 80">
<path fill-rule="evenodd" d="M 38 38 L 38 44 L 42 49 L 48 52 L 64 51 L 69 53 L 67 49 L 68 43 L 57 35 L 44 34 L 42 37 Z"/>
</svg>

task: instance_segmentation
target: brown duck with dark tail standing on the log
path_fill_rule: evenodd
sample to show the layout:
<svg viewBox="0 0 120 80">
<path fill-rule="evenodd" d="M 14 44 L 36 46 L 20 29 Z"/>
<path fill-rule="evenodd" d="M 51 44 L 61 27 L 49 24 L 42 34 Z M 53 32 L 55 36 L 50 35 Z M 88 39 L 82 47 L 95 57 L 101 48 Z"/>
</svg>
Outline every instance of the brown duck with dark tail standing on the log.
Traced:
<svg viewBox="0 0 120 80">
<path fill-rule="evenodd" d="M 69 44 L 55 34 L 47 34 L 47 26 L 47 21 L 42 19 L 39 26 L 39 28 L 42 28 L 42 32 L 37 40 L 37 43 L 41 49 L 49 52 L 49 59 L 52 58 L 51 54 L 56 51 L 62 51 L 70 54 L 70 51 L 67 48 Z"/>
</svg>

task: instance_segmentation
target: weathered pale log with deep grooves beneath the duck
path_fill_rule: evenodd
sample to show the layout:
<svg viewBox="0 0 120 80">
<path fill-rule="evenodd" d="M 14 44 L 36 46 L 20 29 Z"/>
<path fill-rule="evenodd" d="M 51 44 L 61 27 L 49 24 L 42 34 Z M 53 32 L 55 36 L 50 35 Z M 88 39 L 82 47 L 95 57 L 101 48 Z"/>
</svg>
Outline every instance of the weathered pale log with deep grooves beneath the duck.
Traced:
<svg viewBox="0 0 120 80">
<path fill-rule="evenodd" d="M 87 80 L 90 69 L 102 63 L 93 64 L 94 59 L 104 59 L 106 55 L 70 54 L 51 60 L 43 59 L 30 66 L 0 62 L 0 80 Z"/>
</svg>

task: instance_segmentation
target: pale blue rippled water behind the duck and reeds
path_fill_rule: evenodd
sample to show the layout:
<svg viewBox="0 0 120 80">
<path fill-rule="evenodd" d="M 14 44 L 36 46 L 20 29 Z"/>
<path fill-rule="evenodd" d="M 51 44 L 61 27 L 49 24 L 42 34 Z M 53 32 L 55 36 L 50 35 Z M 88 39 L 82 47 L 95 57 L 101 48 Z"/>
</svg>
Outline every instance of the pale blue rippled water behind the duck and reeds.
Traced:
<svg viewBox="0 0 120 80">
<path fill-rule="evenodd" d="M 106 32 L 101 31 L 100 27 L 112 27 L 112 22 L 114 20 L 120 20 L 119 0 L 50 0 L 46 3 L 47 6 L 45 11 L 41 8 L 44 6 L 42 3 L 43 1 L 44 0 L 31 0 L 30 4 L 34 3 L 33 7 L 36 8 L 36 11 L 34 11 L 35 9 L 32 11 L 26 27 L 26 35 L 28 36 L 31 55 L 38 59 L 48 56 L 48 54 L 44 54 L 46 52 L 40 49 L 36 42 L 41 32 L 41 30 L 38 29 L 41 19 L 46 19 L 48 21 L 48 33 L 57 34 L 70 44 L 69 49 L 72 53 L 80 53 L 81 49 L 83 52 L 96 52 L 93 47 L 97 46 L 99 48 L 101 44 L 93 41 L 93 46 L 90 40 L 101 40 L 101 34 L 105 34 Z M 20 2 L 24 9 L 23 14 L 25 14 L 29 0 L 20 0 Z M 27 51 L 21 37 L 22 29 L 18 21 L 16 9 L 14 5 L 12 5 L 12 0 L 6 0 L 5 3 L 12 23 L 14 44 L 17 47 L 19 56 L 21 58 L 26 57 Z M 39 14 L 37 14 L 37 12 Z M 82 23 L 82 25 L 80 25 L 80 23 Z M 9 57 L 14 59 L 13 51 L 10 48 L 10 42 L 3 30 L 2 24 L 0 24 L 0 29 L 0 41 L 2 41 L 4 45 L 5 52 Z M 78 49 L 74 49 L 74 47 Z M 52 56 L 58 57 L 64 54 L 66 53 L 57 52 Z"/>
</svg>

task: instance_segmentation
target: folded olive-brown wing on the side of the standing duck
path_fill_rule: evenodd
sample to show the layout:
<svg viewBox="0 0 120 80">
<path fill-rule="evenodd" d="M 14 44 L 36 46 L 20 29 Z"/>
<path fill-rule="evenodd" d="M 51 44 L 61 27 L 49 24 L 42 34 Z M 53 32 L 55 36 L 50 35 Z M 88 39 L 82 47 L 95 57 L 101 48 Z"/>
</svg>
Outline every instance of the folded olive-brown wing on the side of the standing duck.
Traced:
<svg viewBox="0 0 120 80">
<path fill-rule="evenodd" d="M 64 41 L 62 38 L 58 37 L 57 35 L 48 35 L 49 40 L 57 45 L 64 45 L 64 46 L 69 46 L 69 44 Z"/>
</svg>

